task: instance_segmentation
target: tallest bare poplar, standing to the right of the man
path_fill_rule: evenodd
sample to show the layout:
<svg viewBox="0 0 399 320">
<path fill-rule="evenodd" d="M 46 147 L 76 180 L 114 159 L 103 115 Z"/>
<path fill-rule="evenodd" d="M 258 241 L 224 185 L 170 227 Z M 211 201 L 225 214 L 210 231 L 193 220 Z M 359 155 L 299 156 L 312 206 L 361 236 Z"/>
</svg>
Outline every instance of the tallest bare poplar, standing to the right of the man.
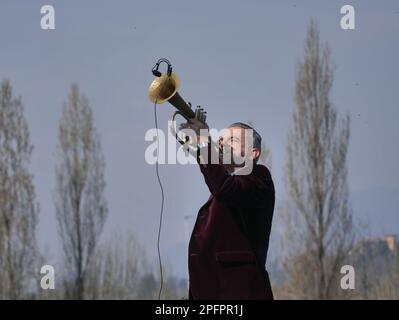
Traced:
<svg viewBox="0 0 399 320">
<path fill-rule="evenodd" d="M 338 119 L 330 101 L 330 49 L 321 48 L 313 21 L 304 49 L 287 145 L 287 290 L 294 298 L 330 299 L 343 293 L 340 268 L 354 240 L 346 167 L 350 121 Z"/>
</svg>

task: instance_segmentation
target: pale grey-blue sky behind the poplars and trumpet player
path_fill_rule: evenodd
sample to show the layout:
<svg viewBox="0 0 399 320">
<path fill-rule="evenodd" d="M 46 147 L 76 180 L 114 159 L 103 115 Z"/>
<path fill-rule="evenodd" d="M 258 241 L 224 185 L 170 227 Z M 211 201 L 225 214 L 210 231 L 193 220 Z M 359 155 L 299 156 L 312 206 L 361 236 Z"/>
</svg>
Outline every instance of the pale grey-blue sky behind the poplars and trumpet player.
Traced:
<svg viewBox="0 0 399 320">
<path fill-rule="evenodd" d="M 55 7 L 54 31 L 40 29 L 44 4 Z M 355 7 L 355 31 L 340 28 L 344 4 Z M 11 80 L 25 105 L 35 146 L 38 236 L 51 259 L 58 248 L 57 129 L 72 82 L 91 102 L 106 157 L 104 239 L 131 230 L 155 259 L 160 192 L 155 168 L 144 161 L 144 134 L 154 127 L 147 100 L 153 64 L 160 57 L 172 61 L 182 96 L 207 110 L 210 126 L 254 122 L 272 150 L 279 201 L 295 68 L 311 18 L 332 48 L 332 101 L 342 115 L 351 115 L 348 166 L 355 213 L 369 219 L 376 234 L 399 233 L 397 1 L 2 0 L 0 79 Z M 165 130 L 171 111 L 167 104 L 159 106 Z M 196 214 L 208 190 L 196 166 L 162 165 L 160 173 L 166 192 L 162 252 L 182 274 L 183 217 Z"/>
</svg>

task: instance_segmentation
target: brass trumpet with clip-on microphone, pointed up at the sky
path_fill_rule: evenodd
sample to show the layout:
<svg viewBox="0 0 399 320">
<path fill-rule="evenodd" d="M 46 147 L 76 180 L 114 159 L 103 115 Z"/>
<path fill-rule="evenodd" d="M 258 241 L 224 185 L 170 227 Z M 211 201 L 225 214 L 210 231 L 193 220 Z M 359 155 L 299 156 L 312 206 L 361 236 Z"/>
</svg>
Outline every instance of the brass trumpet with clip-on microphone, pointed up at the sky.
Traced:
<svg viewBox="0 0 399 320">
<path fill-rule="evenodd" d="M 159 71 L 159 66 L 161 63 L 166 63 L 168 66 L 167 72 L 162 74 Z M 204 111 L 201 106 L 197 106 L 195 110 L 192 109 L 191 103 L 186 103 L 184 99 L 180 96 L 178 89 L 180 87 L 180 79 L 178 75 L 173 72 L 172 65 L 169 60 L 162 58 L 152 68 L 152 74 L 156 77 L 148 89 L 148 97 L 151 102 L 155 104 L 162 104 L 164 102 L 169 102 L 178 111 L 175 111 L 169 121 L 169 129 L 172 135 L 175 136 L 176 140 L 181 144 L 186 144 L 188 137 L 182 140 L 178 137 L 176 132 L 176 116 L 180 115 L 186 120 L 193 118 L 198 119 L 202 123 L 206 121 L 206 111 Z"/>
</svg>

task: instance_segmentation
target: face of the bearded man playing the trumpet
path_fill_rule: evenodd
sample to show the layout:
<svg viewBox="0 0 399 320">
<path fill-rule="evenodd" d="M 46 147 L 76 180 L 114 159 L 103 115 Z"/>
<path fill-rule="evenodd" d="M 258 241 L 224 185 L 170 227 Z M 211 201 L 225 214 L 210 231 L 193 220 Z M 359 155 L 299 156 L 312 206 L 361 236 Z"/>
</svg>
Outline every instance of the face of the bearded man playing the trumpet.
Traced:
<svg viewBox="0 0 399 320">
<path fill-rule="evenodd" d="M 225 152 L 223 163 L 226 167 L 242 167 L 259 156 L 259 150 L 253 148 L 252 130 L 249 129 L 226 128 L 219 138 L 219 147 Z"/>
</svg>

